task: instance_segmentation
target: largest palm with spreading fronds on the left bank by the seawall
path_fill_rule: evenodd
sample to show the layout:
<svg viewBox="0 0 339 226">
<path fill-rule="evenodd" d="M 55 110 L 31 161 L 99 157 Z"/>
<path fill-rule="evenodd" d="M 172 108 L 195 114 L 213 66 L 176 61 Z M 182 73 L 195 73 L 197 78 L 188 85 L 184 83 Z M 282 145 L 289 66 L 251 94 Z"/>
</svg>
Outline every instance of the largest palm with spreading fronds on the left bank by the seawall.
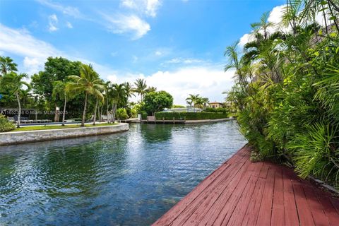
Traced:
<svg viewBox="0 0 339 226">
<path fill-rule="evenodd" d="M 67 85 L 66 90 L 73 90 L 74 92 L 85 94 L 83 120 L 81 121 L 81 126 L 85 126 L 88 95 L 95 95 L 96 97 L 103 99 L 104 96 L 102 95 L 101 90 L 103 90 L 105 86 L 102 85 L 102 80 L 93 70 L 91 65 L 84 64 L 80 69 L 80 76 L 69 76 L 69 78 L 72 80 L 72 82 Z"/>
</svg>

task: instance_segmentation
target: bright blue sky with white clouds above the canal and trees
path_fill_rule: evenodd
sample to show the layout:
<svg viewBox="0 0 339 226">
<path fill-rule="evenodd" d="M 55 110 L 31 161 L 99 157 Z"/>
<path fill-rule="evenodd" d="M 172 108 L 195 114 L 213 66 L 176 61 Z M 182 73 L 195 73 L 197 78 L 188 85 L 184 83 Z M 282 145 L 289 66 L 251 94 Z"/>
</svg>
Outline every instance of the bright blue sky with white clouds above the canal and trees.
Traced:
<svg viewBox="0 0 339 226">
<path fill-rule="evenodd" d="M 0 54 L 30 75 L 43 69 L 46 57 L 66 57 L 93 64 L 105 80 L 145 78 L 176 104 L 189 93 L 222 101 L 222 90 L 232 85 L 232 71 L 223 72 L 225 47 L 244 39 L 263 12 L 283 4 L 0 0 Z"/>
</svg>

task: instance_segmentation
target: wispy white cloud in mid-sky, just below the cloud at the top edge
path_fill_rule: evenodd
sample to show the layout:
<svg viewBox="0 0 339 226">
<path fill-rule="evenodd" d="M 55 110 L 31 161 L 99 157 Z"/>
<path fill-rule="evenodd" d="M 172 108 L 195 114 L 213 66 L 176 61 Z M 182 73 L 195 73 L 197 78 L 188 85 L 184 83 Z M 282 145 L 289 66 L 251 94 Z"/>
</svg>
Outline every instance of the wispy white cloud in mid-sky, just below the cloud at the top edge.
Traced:
<svg viewBox="0 0 339 226">
<path fill-rule="evenodd" d="M 137 40 L 150 30 L 150 25 L 136 15 L 116 14 L 109 16 L 102 13 L 107 20 L 107 29 L 115 34 L 129 34 L 132 40 Z"/>
</svg>

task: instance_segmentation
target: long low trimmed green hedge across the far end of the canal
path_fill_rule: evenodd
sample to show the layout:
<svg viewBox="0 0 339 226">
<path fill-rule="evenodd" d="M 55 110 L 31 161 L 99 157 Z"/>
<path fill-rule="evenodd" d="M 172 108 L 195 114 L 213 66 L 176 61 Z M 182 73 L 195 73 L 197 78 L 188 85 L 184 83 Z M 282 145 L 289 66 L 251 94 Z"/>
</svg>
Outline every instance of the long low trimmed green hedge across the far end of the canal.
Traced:
<svg viewBox="0 0 339 226">
<path fill-rule="evenodd" d="M 219 112 L 157 112 L 155 118 L 157 120 L 203 120 L 203 119 L 225 119 L 229 114 Z"/>
</svg>

